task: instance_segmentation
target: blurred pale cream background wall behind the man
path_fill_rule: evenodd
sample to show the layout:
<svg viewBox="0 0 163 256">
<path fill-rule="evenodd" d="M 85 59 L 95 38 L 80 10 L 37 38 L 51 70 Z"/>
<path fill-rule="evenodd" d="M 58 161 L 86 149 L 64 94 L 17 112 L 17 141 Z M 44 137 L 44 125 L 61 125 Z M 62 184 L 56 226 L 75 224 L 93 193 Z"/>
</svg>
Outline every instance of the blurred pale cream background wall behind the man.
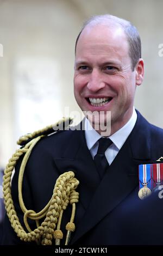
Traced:
<svg viewBox="0 0 163 256">
<path fill-rule="evenodd" d="M 145 80 L 135 107 L 163 127 L 162 10 L 162 0 L 0 0 L 0 167 L 18 137 L 55 123 L 64 107 L 79 110 L 73 97 L 74 44 L 92 15 L 110 13 L 139 30 Z"/>
</svg>

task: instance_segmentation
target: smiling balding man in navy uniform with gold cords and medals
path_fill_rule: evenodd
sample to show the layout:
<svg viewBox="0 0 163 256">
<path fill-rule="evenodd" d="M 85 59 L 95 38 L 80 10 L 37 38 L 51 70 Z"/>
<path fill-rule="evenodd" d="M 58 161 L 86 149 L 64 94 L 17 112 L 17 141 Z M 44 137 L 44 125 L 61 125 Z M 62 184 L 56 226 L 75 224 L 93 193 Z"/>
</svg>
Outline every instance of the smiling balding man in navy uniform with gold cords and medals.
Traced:
<svg viewBox="0 0 163 256">
<path fill-rule="evenodd" d="M 163 243 L 160 228 L 163 203 L 158 193 L 153 192 L 151 197 L 141 200 L 158 188 L 163 177 L 162 164 L 156 162 L 163 155 L 163 130 L 149 124 L 134 108 L 135 90 L 143 81 L 143 70 L 140 36 L 130 22 L 111 15 L 101 15 L 85 23 L 76 41 L 74 63 L 74 96 L 85 113 L 85 129 L 66 129 L 45 136 L 28 154 L 28 162 L 27 158 L 22 162 L 23 156 L 17 161 L 11 192 L 23 227 L 24 214 L 20 205 L 22 174 L 19 174 L 27 162 L 22 196 L 29 210 L 39 212 L 45 208 L 60 174 L 73 170 L 79 180 L 79 202 L 74 217 L 76 229 L 71 225 L 74 230 L 71 245 Z M 34 133 L 34 136 L 38 134 Z M 8 172 L 5 173 L 8 179 Z M 69 182 L 68 190 L 70 186 Z M 57 205 L 55 209 L 60 212 L 55 215 L 49 208 L 46 220 L 42 219 L 40 230 L 43 233 L 37 237 L 43 244 L 45 237 L 47 243 L 51 244 L 58 218 L 57 229 L 61 229 L 64 236 L 66 223 L 70 218 L 72 222 L 74 211 L 71 216 L 70 208 L 62 216 L 60 205 L 66 193 L 64 187 L 60 200 L 62 187 L 64 182 L 58 185 L 57 193 L 54 193 L 55 200 L 52 200 Z M 8 192 L 7 188 L 5 190 Z M 6 197 L 8 200 L 9 195 Z M 77 202 L 74 194 L 71 202 Z M 62 209 L 66 208 L 65 205 L 67 201 Z M 8 215 L 13 221 L 15 216 L 12 216 L 9 206 Z M 27 214 L 29 217 L 30 211 Z M 12 229 L 6 217 L 3 244 L 23 243 L 16 233 L 26 240 L 27 234 L 21 236 L 24 231 L 18 227 L 17 218 L 15 220 Z M 45 228 L 46 221 L 49 229 Z M 33 221 L 30 227 L 36 228 Z M 32 240 L 32 234 L 28 236 L 28 241 Z M 38 234 L 37 230 L 35 236 Z M 62 233 L 59 233 L 57 239 L 61 237 Z M 64 244 L 64 240 L 61 243 Z"/>
</svg>

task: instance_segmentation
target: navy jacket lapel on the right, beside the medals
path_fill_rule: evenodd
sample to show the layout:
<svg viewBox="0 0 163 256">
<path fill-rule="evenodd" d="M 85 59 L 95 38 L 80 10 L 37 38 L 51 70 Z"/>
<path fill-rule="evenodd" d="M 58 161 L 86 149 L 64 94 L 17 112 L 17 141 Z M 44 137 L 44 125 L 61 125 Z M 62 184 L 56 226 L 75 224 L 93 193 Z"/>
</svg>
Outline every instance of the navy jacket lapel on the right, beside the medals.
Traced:
<svg viewBox="0 0 163 256">
<path fill-rule="evenodd" d="M 95 227 L 110 211 L 123 202 L 139 184 L 138 165 L 151 157 L 149 125 L 138 113 L 136 125 L 110 165 L 78 224 L 72 243 Z M 141 143 L 141 144 L 140 144 Z M 83 195 L 80 194 L 82 197 Z"/>
</svg>

